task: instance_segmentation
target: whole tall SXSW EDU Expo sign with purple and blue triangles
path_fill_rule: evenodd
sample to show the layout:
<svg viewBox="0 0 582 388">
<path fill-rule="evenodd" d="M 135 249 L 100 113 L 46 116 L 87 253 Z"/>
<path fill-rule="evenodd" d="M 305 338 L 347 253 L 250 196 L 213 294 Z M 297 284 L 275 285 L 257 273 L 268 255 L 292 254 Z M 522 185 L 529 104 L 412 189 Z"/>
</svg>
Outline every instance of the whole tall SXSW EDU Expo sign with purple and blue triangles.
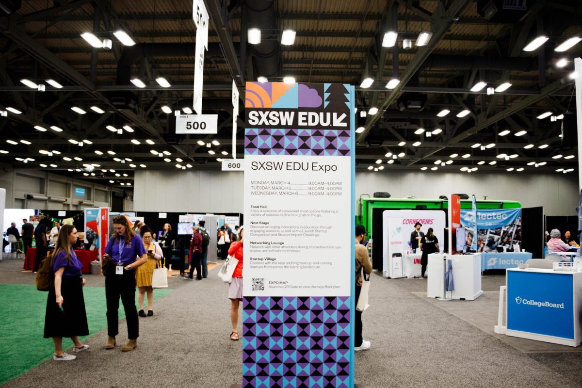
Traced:
<svg viewBox="0 0 582 388">
<path fill-rule="evenodd" d="M 354 88 L 246 84 L 243 387 L 353 387 Z"/>
</svg>

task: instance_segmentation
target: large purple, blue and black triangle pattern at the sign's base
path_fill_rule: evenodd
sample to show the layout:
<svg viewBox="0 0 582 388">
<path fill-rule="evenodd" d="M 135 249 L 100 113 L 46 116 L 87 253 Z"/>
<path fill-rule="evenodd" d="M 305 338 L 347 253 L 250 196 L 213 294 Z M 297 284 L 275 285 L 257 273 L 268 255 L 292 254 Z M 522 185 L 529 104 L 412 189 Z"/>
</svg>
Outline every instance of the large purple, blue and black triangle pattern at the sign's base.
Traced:
<svg viewBox="0 0 582 388">
<path fill-rule="evenodd" d="M 244 297 L 243 388 L 348 388 L 350 297 Z"/>
</svg>

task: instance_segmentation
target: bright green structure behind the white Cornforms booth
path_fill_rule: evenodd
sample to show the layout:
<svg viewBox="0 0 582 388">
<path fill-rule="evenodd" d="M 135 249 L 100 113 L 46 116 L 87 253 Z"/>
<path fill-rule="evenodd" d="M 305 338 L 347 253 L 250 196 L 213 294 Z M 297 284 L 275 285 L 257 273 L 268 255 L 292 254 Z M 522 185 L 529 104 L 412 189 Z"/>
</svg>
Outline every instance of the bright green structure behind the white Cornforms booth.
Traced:
<svg viewBox="0 0 582 388">
<path fill-rule="evenodd" d="M 477 200 L 477 209 L 518 209 L 521 208 L 517 201 Z M 383 213 L 386 210 L 423 210 L 437 211 L 445 214 L 448 224 L 448 200 L 446 199 L 421 199 L 421 198 L 366 198 L 360 197 L 356 203 L 356 223 L 363 225 L 367 231 L 366 239 L 372 239 L 372 267 L 382 270 L 382 252 L 384 251 Z M 461 200 L 461 209 L 471 209 L 471 200 Z M 413 229 L 410 225 L 410 230 Z M 423 230 L 425 230 L 424 227 Z M 436 231 L 435 231 L 436 232 Z M 445 247 L 442 241 L 442 247 Z M 446 247 L 448 248 L 448 247 Z"/>
</svg>

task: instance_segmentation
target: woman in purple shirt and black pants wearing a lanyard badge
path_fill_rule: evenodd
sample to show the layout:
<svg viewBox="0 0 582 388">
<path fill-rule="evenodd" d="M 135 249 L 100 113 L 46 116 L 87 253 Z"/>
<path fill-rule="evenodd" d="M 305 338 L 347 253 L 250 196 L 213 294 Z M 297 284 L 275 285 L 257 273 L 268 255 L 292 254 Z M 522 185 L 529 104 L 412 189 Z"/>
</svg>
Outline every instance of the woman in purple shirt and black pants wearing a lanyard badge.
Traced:
<svg viewBox="0 0 582 388">
<path fill-rule="evenodd" d="M 116 346 L 115 336 L 119 333 L 119 297 L 125 309 L 127 337 L 129 342 L 122 351 L 137 347 L 139 321 L 136 308 L 136 268 L 147 262 L 147 252 L 140 236 L 133 232 L 125 216 L 113 218 L 115 233 L 105 247 L 105 299 L 107 300 L 106 349 Z M 139 257 L 136 261 L 136 257 Z"/>
</svg>

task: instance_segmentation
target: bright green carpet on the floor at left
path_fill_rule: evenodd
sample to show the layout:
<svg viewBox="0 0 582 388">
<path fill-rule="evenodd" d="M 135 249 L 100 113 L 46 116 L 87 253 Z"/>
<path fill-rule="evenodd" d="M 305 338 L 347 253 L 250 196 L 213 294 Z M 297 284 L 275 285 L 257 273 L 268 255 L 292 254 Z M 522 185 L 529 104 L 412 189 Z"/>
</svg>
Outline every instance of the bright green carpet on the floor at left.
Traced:
<svg viewBox="0 0 582 388">
<path fill-rule="evenodd" d="M 171 289 L 154 291 L 154 300 L 171 293 Z M 37 291 L 34 284 L 0 284 L 0 385 L 22 375 L 52 357 L 52 339 L 43 338 L 47 294 Z M 105 287 L 83 289 L 90 336 L 107 327 L 105 317 Z M 136 290 L 137 306 L 137 290 Z M 125 318 L 121 301 L 119 319 Z M 120 333 L 125 330 L 120 327 Z M 87 337 L 81 337 L 81 341 Z M 63 349 L 73 341 L 63 339 Z"/>
</svg>

